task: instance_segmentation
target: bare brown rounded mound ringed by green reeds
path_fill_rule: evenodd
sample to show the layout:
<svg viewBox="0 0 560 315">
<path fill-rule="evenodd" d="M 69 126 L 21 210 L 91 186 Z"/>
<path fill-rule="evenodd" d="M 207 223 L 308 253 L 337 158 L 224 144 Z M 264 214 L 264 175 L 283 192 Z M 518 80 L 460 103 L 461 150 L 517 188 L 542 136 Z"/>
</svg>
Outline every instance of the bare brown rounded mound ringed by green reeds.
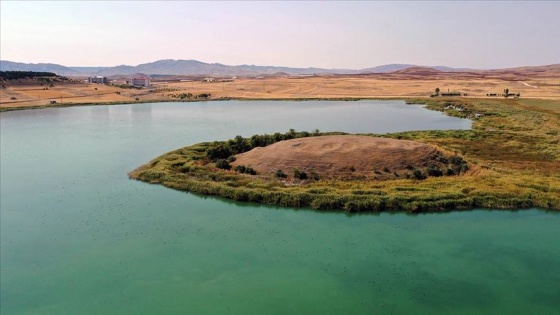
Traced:
<svg viewBox="0 0 560 315">
<path fill-rule="evenodd" d="M 281 141 L 238 154 L 231 164 L 251 166 L 262 175 L 282 170 L 291 177 L 298 169 L 321 178 L 377 179 L 410 177 L 415 170 L 428 175 L 429 169 L 451 175 L 448 168 L 456 168 L 444 154 L 423 143 L 354 135 Z"/>
</svg>

